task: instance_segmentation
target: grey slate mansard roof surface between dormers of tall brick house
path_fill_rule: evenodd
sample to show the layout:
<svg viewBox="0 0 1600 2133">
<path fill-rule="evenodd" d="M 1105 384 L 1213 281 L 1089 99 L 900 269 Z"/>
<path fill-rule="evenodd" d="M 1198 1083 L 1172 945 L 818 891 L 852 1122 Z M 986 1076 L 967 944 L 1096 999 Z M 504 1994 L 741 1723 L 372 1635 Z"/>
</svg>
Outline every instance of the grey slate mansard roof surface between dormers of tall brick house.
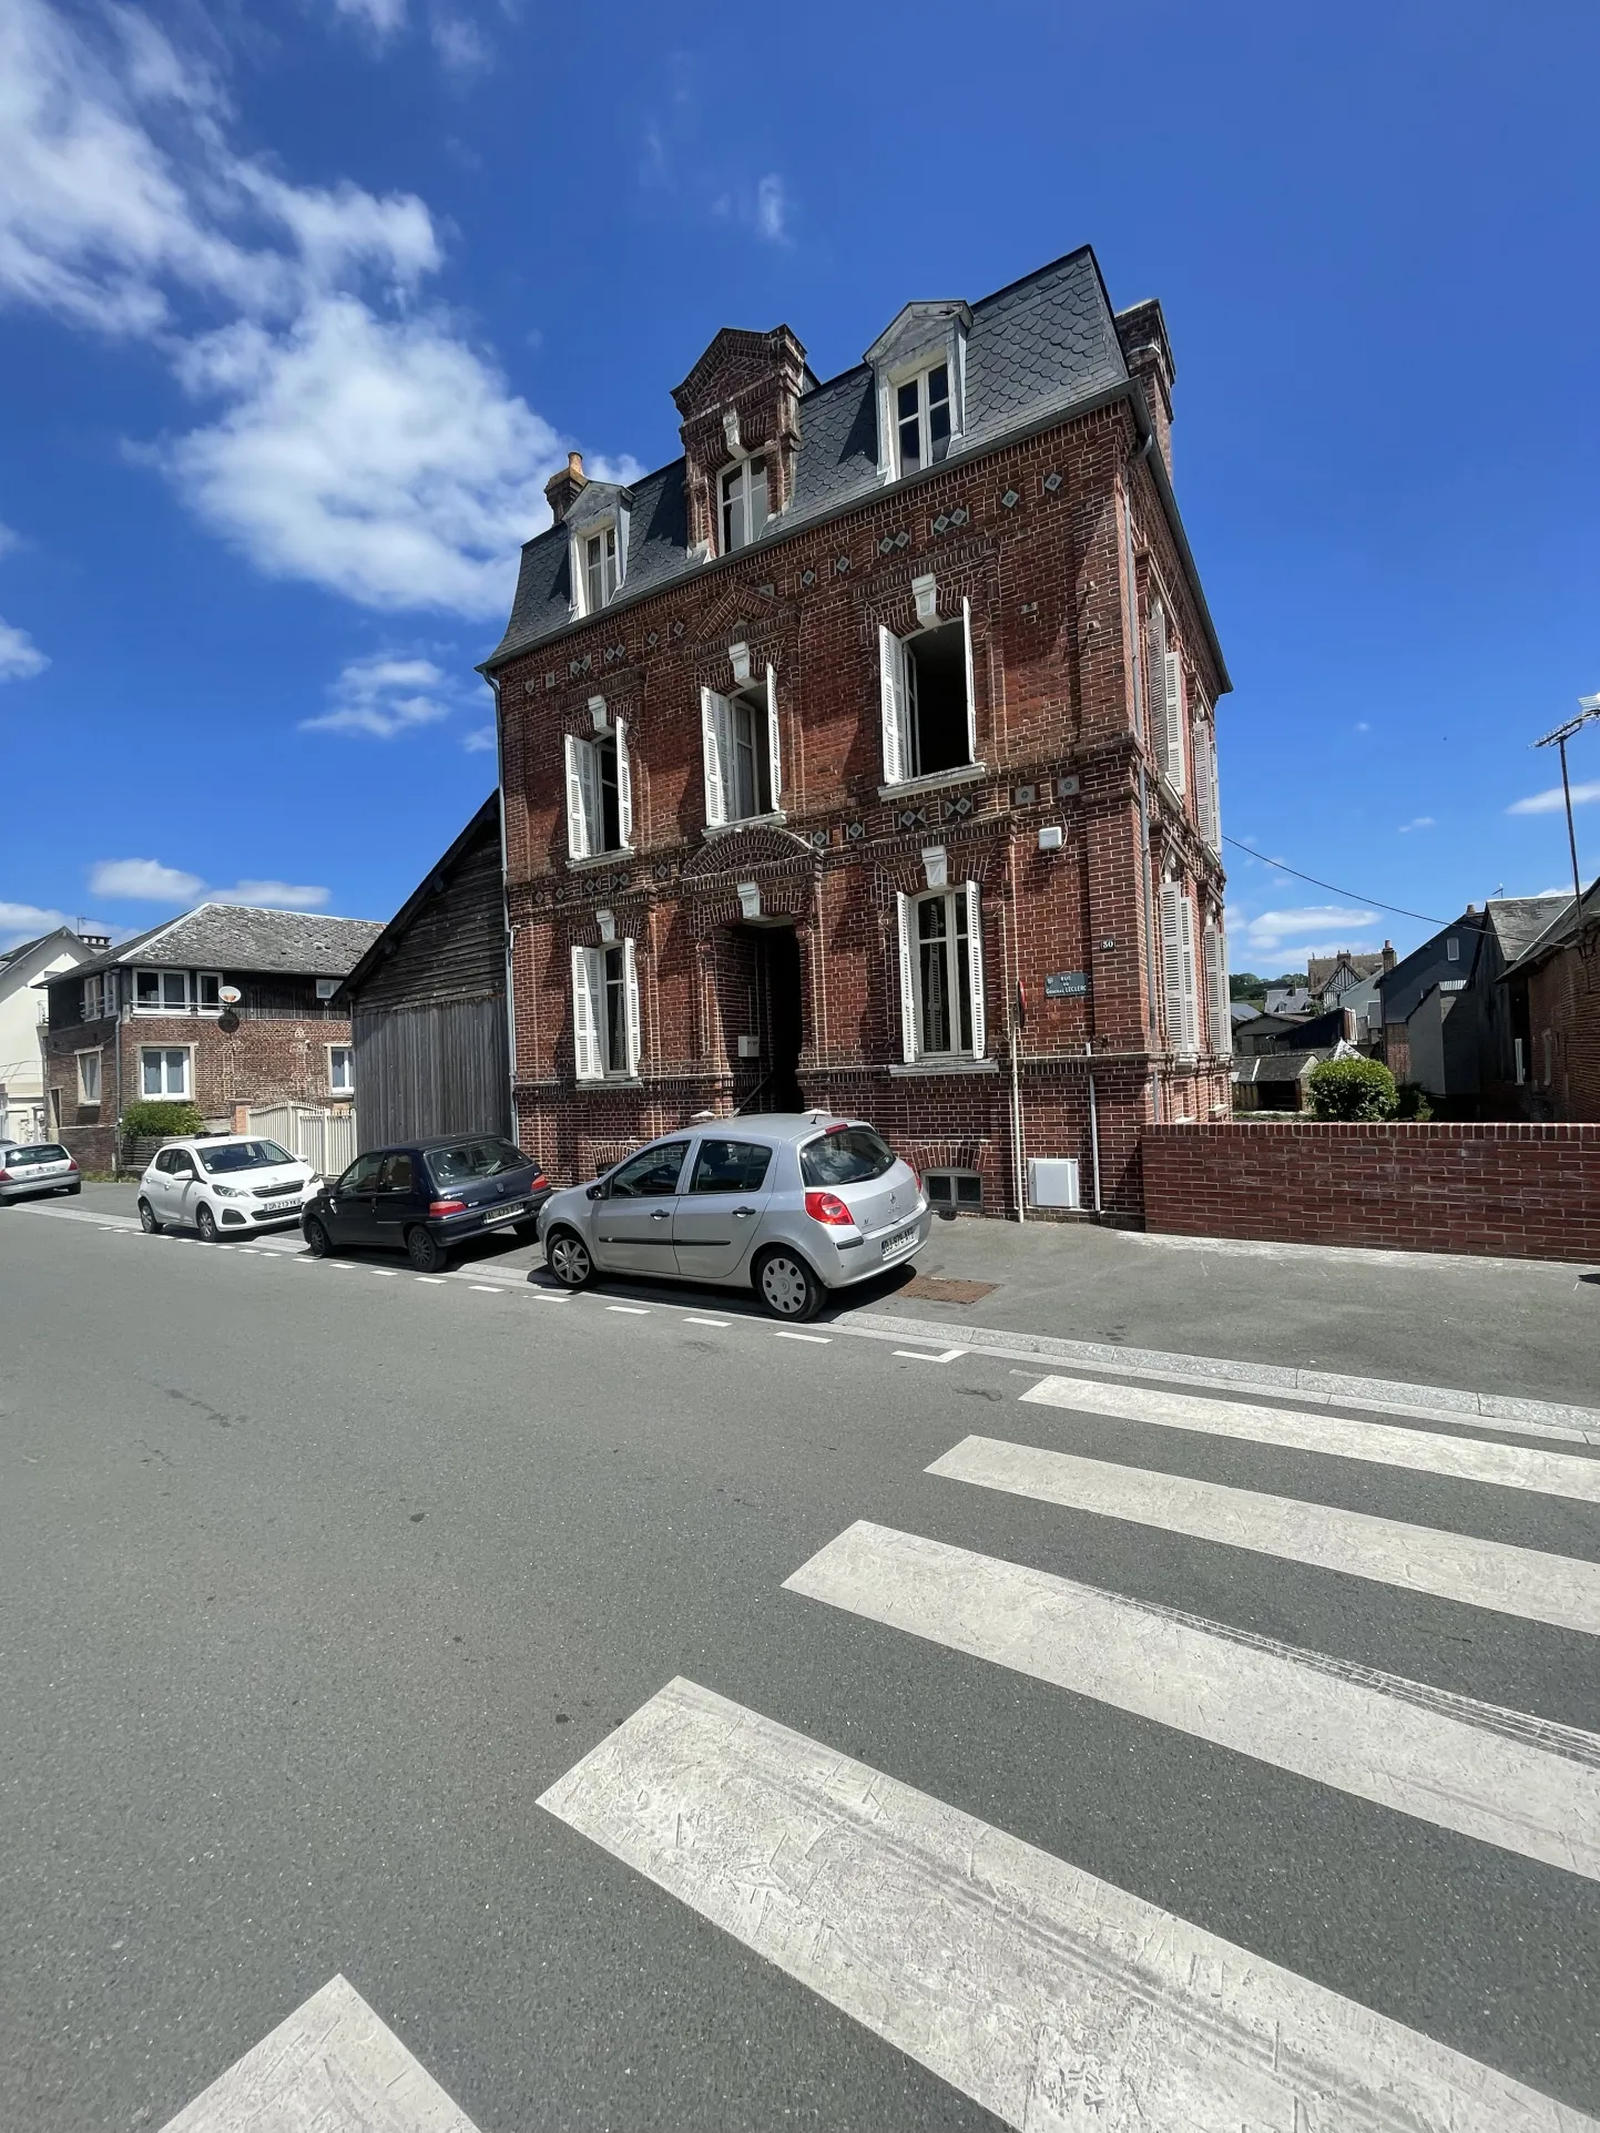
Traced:
<svg viewBox="0 0 1600 2133">
<path fill-rule="evenodd" d="M 971 307 L 971 316 L 966 427 L 941 465 L 956 465 L 1030 424 L 1045 422 L 1052 414 L 1067 414 L 1131 386 L 1111 301 L 1088 245 L 983 296 Z M 1131 390 L 1137 392 L 1137 384 Z M 881 480 L 877 448 L 870 363 L 858 363 L 855 369 L 806 390 L 800 397 L 794 501 L 772 523 L 764 542 L 736 552 L 749 559 L 768 542 L 898 486 Z M 913 482 L 919 478 L 909 476 Z M 1158 482 L 1165 484 L 1165 471 Z M 599 484 L 591 484 L 595 486 Z M 617 604 L 706 567 L 689 557 L 683 459 L 640 476 L 627 495 L 631 499 L 627 552 Z M 1175 508 L 1169 510 L 1175 516 Z M 1178 538 L 1182 544 L 1182 531 Z M 493 670 L 514 653 L 531 651 L 544 638 L 574 627 L 574 621 L 570 540 L 567 529 L 557 525 L 523 546 L 510 623 L 484 670 Z"/>
</svg>

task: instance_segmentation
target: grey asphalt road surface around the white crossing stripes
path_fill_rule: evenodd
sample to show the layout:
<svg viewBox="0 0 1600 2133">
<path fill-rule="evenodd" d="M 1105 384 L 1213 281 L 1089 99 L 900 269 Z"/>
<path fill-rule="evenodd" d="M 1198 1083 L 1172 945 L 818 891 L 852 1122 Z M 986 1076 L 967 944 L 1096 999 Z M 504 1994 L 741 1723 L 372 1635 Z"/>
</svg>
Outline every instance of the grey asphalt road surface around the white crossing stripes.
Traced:
<svg viewBox="0 0 1600 2133">
<path fill-rule="evenodd" d="M 704 1299 L 559 1299 L 495 1276 L 0 1218 L 0 2124 L 164 2127 L 335 1973 L 482 2133 L 1003 2122 L 975 2101 L 966 2046 L 945 2065 L 890 2041 L 896 1992 L 832 2005 L 809 1982 L 817 1941 L 757 1954 L 710 1901 L 582 1834 L 572 1802 L 538 1805 L 612 1734 L 631 1741 L 678 1677 L 1141 1915 L 1600 2114 L 1591 1866 L 1468 1834 L 1455 1807 L 1385 1805 L 1382 1773 L 1291 1768 L 1271 1711 L 1250 1751 L 1227 1747 L 1199 1706 L 1158 1721 L 954 1632 L 785 1589 L 870 1521 L 1141 1602 L 1152 1636 L 1199 1619 L 1235 1657 L 1276 1640 L 1335 1685 L 1382 1670 L 1521 1713 L 1562 1781 L 1594 1787 L 1600 1745 L 1559 1732 L 1600 1730 L 1596 1642 L 1572 1613 L 1589 1572 L 1557 1578 L 1538 1619 L 926 1468 L 981 1436 L 1079 1455 L 1111 1485 L 1195 1478 L 1402 1521 L 1419 1561 L 1466 1536 L 1596 1566 L 1581 1487 L 1033 1404 L 1035 1365 L 934 1361 L 843 1320 L 798 1342 Z M 1581 1442 L 1391 1427 L 1598 1470 Z M 640 1800 L 610 1796 L 623 1817 Z M 710 1858 L 715 1813 L 691 1837 Z M 738 1875 L 755 1875 L 751 1932 L 768 1930 L 772 1892 L 749 1860 Z M 883 1888 L 879 1922 L 898 1901 Z M 1015 1909 L 964 1979 L 979 2005 Z M 1163 2014 L 1180 2028 L 1197 2020 L 1184 1990 L 1193 1960 Z M 1146 2122 L 1105 2103 L 1116 2054 L 1073 2065 L 1035 2122 Z M 1513 2122 L 1557 2124 L 1493 2105 L 1459 2120 Z"/>
</svg>

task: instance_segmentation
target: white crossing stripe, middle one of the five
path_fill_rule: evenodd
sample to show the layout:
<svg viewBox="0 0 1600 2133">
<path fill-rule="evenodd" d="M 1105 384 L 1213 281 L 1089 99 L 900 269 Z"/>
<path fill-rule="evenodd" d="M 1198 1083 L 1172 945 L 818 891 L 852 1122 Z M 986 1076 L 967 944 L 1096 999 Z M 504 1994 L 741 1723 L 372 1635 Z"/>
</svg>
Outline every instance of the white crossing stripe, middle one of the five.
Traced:
<svg viewBox="0 0 1600 2133">
<path fill-rule="evenodd" d="M 787 1591 L 1600 1881 L 1600 1736 L 858 1521 Z"/>
</svg>

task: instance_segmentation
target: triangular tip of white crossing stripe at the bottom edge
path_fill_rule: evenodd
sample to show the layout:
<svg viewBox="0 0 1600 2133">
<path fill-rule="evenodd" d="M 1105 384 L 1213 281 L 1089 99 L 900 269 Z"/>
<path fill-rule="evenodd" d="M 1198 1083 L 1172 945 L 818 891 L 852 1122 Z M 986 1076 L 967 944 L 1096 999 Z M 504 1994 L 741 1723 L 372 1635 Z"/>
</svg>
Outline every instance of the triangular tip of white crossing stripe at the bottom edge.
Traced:
<svg viewBox="0 0 1600 2133">
<path fill-rule="evenodd" d="M 346 1977 L 235 2060 L 162 2133 L 476 2133 Z"/>
</svg>

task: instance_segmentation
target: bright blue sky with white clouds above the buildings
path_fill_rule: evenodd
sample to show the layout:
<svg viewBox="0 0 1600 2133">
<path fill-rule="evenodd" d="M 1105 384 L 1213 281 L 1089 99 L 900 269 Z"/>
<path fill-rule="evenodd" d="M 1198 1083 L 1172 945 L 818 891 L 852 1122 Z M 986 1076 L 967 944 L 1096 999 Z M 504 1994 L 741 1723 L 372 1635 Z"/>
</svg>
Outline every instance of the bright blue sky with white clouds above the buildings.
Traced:
<svg viewBox="0 0 1600 2133">
<path fill-rule="evenodd" d="M 1600 689 L 1594 6 L 0 0 L 0 943 L 386 917 L 570 446 L 1090 241 L 1158 294 L 1235 968 L 1568 879 Z M 1572 747 L 1600 868 L 1600 725 Z M 1519 802 L 1523 808 L 1519 811 Z M 1527 806 L 1527 802 L 1534 802 Z"/>
</svg>

